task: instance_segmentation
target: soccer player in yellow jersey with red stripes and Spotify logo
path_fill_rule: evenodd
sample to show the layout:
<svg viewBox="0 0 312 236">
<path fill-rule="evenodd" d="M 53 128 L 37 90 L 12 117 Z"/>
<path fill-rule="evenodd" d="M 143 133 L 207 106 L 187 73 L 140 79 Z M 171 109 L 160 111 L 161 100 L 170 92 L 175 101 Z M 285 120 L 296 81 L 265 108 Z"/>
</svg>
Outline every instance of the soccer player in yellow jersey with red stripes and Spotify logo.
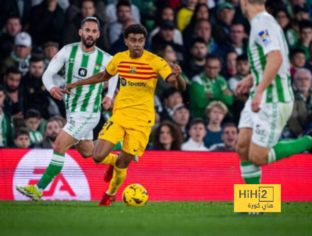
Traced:
<svg viewBox="0 0 312 236">
<path fill-rule="evenodd" d="M 177 64 L 169 66 L 162 58 L 144 50 L 147 31 L 140 24 L 132 24 L 124 30 L 124 41 L 129 50 L 117 53 L 106 71 L 85 80 L 69 84 L 66 92 L 79 85 L 97 84 L 119 74 L 120 91 L 117 94 L 112 117 L 98 134 L 93 152 L 96 163 L 110 164 L 114 171 L 110 185 L 99 206 L 110 206 L 115 194 L 126 178 L 127 168 L 135 155 L 141 156 L 148 143 L 155 121 L 154 91 L 157 77 L 161 76 L 179 90 L 185 89 Z M 110 153 L 114 145 L 123 139 L 122 150 L 117 156 Z M 106 176 L 107 177 L 107 176 Z"/>
</svg>

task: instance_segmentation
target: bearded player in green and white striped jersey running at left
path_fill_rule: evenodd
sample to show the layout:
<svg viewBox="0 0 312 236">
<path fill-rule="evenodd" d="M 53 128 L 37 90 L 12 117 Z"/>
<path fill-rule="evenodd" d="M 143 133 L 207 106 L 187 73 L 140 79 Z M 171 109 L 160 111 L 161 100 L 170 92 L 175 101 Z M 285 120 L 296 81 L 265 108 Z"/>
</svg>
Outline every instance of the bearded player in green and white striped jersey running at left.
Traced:
<svg viewBox="0 0 312 236">
<path fill-rule="evenodd" d="M 63 69 L 66 84 L 83 80 L 105 70 L 112 56 L 96 46 L 99 33 L 98 19 L 85 18 L 79 29 L 81 42 L 64 46 L 52 59 L 43 74 L 42 81 L 54 98 L 61 100 L 64 92 L 53 84 L 53 76 L 60 69 Z M 108 96 L 102 101 L 106 107 L 111 104 L 117 81 L 116 75 L 109 82 Z M 66 96 L 67 123 L 55 141 L 52 160 L 36 185 L 16 187 L 20 193 L 39 200 L 43 190 L 61 171 L 65 152 L 73 145 L 82 157 L 87 158 L 92 155 L 94 149 L 92 130 L 97 126 L 100 118 L 102 86 L 103 83 L 77 86 L 70 95 Z"/>
</svg>

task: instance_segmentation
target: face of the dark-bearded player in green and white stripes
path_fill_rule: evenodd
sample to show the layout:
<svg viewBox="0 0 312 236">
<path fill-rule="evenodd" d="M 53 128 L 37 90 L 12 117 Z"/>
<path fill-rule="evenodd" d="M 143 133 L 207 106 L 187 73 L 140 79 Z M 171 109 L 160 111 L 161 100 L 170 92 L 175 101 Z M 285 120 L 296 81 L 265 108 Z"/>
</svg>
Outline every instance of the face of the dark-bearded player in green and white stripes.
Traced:
<svg viewBox="0 0 312 236">
<path fill-rule="evenodd" d="M 92 47 L 98 40 L 98 24 L 93 21 L 85 22 L 82 29 L 79 29 L 79 36 L 86 48 Z"/>
</svg>

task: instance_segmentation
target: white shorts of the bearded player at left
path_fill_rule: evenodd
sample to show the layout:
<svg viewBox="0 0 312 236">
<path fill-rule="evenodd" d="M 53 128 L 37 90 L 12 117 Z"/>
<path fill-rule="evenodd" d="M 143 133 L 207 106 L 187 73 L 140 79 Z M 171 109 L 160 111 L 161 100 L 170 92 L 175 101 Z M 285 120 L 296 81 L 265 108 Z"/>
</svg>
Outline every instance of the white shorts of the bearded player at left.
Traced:
<svg viewBox="0 0 312 236">
<path fill-rule="evenodd" d="M 98 125 L 99 118 L 99 112 L 71 112 L 66 110 L 67 123 L 63 130 L 78 141 L 92 140 L 93 129 Z"/>
</svg>

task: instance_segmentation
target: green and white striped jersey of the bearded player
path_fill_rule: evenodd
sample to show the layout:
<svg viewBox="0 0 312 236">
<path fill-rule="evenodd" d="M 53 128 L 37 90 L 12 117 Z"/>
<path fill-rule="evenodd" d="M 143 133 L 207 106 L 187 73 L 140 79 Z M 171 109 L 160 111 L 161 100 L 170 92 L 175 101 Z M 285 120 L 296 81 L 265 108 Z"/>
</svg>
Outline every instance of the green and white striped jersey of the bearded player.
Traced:
<svg viewBox="0 0 312 236">
<path fill-rule="evenodd" d="M 104 71 L 112 56 L 98 47 L 86 53 L 81 49 L 80 42 L 65 45 L 48 65 L 45 74 L 56 74 L 63 68 L 65 84 L 86 79 L 98 72 Z M 43 75 L 43 79 L 45 75 Z M 116 80 L 112 78 L 111 80 Z M 116 82 L 117 84 L 117 82 Z M 66 94 L 66 109 L 75 111 L 99 112 L 101 109 L 101 92 L 103 83 L 96 85 L 77 86 Z M 115 91 L 116 86 L 114 87 Z M 51 87 L 47 88 L 48 90 Z M 113 93 L 114 93 L 113 91 Z"/>
</svg>

